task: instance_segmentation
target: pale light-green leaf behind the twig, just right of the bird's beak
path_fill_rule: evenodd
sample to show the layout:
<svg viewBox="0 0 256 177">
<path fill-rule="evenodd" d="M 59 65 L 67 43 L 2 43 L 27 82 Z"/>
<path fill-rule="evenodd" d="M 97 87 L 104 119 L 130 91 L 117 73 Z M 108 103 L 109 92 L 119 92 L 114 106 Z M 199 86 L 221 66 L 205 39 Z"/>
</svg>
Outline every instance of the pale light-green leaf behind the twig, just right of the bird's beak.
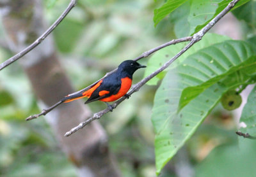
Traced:
<svg viewBox="0 0 256 177">
<path fill-rule="evenodd" d="M 180 62 L 182 62 L 186 57 L 189 55 L 197 52 L 198 50 L 202 48 L 206 48 L 207 46 L 211 46 L 215 43 L 220 43 L 222 41 L 226 41 L 230 38 L 227 36 L 221 36 L 218 34 L 205 34 L 204 38 L 200 41 L 200 43 L 196 43 L 193 45 L 187 52 L 185 52 L 183 55 L 179 57 L 173 64 L 168 67 L 161 75 L 157 75 L 156 77 L 152 78 L 152 80 L 148 81 L 148 85 L 156 85 L 157 81 L 159 81 L 161 78 L 163 78 L 163 74 L 166 73 L 169 69 L 172 69 L 174 67 L 177 67 Z M 184 46 L 186 46 L 187 43 L 179 43 L 177 45 L 171 45 L 167 46 L 159 51 L 157 51 L 150 59 L 148 60 L 148 64 L 145 70 L 145 77 L 151 74 L 152 72 L 156 71 L 160 66 L 164 64 L 164 62 L 167 62 L 170 60 L 173 56 L 175 56 Z"/>
</svg>

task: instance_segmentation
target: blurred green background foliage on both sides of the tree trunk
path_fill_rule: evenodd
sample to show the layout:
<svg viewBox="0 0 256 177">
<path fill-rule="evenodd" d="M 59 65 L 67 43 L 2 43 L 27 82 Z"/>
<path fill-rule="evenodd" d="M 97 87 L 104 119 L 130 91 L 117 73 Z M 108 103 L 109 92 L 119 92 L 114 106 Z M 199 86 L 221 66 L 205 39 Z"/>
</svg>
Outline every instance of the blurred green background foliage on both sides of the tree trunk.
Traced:
<svg viewBox="0 0 256 177">
<path fill-rule="evenodd" d="M 68 3 L 44 1 L 47 22 L 52 24 Z M 163 2 L 78 1 L 76 8 L 53 32 L 61 63 L 77 90 L 98 80 L 118 66 L 122 60 L 133 59 L 154 46 L 176 37 L 186 36 L 189 31 L 195 30 L 195 24 L 193 30 L 191 24 L 188 24 L 189 14 L 193 17 L 193 13 L 188 10 L 189 3 L 182 4 L 173 11 L 170 18 L 163 18 L 155 28 L 153 12 L 160 3 Z M 251 6 L 255 6 L 255 1 L 250 3 L 253 3 Z M 255 43 L 255 13 L 250 10 L 251 6 L 245 4 L 235 10 L 234 14 L 243 21 L 243 26 L 246 26 L 244 39 Z M 216 8 L 211 15 L 214 15 L 215 10 Z M 244 14 L 250 12 L 250 16 Z M 202 13 L 201 16 L 204 18 L 205 12 Z M 210 17 L 204 20 L 207 21 L 208 18 Z M 202 25 L 204 22 L 199 24 Z M 0 26 L 0 38 L 4 39 L 2 29 Z M 219 37 L 210 36 L 209 41 L 202 41 L 202 46 L 198 43 L 200 46 L 196 46 L 196 50 L 227 40 L 227 37 Z M 205 38 L 207 39 L 207 36 Z M 179 48 L 177 45 L 172 47 Z M 173 52 L 168 48 L 164 50 Z M 162 54 L 165 55 L 165 52 L 162 51 Z M 189 52 L 195 53 L 192 48 Z M 160 54 L 156 53 L 161 56 Z M 12 53 L 7 48 L 0 48 L 0 62 L 11 56 Z M 152 59 L 154 57 L 157 58 L 153 56 Z M 146 62 L 147 59 L 140 60 L 141 64 Z M 155 65 L 156 63 L 158 66 L 159 61 L 154 60 Z M 134 74 L 134 83 L 142 77 L 143 71 L 138 71 Z M 163 77 L 164 74 L 159 76 L 159 79 Z M 156 176 L 154 131 L 150 121 L 156 89 L 156 86 L 142 87 L 140 92 L 132 95 L 113 113 L 104 115 L 100 120 L 108 132 L 109 145 L 124 176 Z M 94 112 L 106 108 L 106 105 L 100 102 L 92 103 L 90 108 Z M 75 167 L 61 152 L 44 118 L 32 122 L 24 121 L 24 118 L 38 113 L 39 110 L 28 78 L 19 64 L 12 64 L 1 71 L 0 176 L 77 176 Z M 179 171 L 192 171 L 190 176 L 255 174 L 253 148 L 256 143 L 244 139 L 241 149 L 238 150 L 235 130 L 236 124 L 232 115 L 220 105 L 216 106 L 204 124 L 188 140 L 186 147 L 177 152 L 164 167 L 160 176 L 179 176 Z M 241 166 L 239 162 L 250 165 Z M 187 168 L 183 169 L 184 164 Z"/>
</svg>

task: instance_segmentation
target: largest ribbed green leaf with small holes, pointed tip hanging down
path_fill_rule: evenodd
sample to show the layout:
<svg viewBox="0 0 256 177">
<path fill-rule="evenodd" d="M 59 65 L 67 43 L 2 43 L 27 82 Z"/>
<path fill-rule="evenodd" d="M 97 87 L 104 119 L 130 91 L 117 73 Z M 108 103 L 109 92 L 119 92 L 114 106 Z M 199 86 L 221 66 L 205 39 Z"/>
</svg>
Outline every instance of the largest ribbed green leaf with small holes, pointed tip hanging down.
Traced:
<svg viewBox="0 0 256 177">
<path fill-rule="evenodd" d="M 234 88 L 234 85 L 238 86 L 244 84 L 248 79 L 248 77 L 236 78 L 236 75 L 233 76 L 232 73 L 229 73 L 227 76 L 228 79 L 226 77 L 223 78 L 224 81 L 220 80 L 218 83 L 212 83 L 213 85 L 205 88 L 202 93 L 186 104 L 186 106 L 177 113 L 180 96 L 184 88 L 197 85 L 198 83 L 204 83 L 205 80 L 211 78 L 209 76 L 211 76 L 212 72 L 214 72 L 216 76 L 221 75 L 227 71 L 225 68 L 232 69 L 253 55 L 253 50 L 250 45 L 243 41 L 225 41 L 214 46 L 209 46 L 214 53 L 216 53 L 216 48 L 221 47 L 228 48 L 228 50 L 235 48 L 236 55 L 234 53 L 225 53 L 230 60 L 223 60 L 223 57 L 213 57 L 213 62 L 211 62 L 212 58 L 202 57 L 202 55 L 199 58 L 189 57 L 189 59 L 185 60 L 180 66 L 168 71 L 156 92 L 152 110 L 152 122 L 154 131 L 156 132 L 155 151 L 158 174 L 168 160 L 172 159 L 177 150 L 192 136 L 204 118 L 207 117 L 212 108 L 220 101 L 222 94 L 227 92 L 228 89 Z M 197 53 L 202 53 L 204 50 L 207 52 L 211 51 L 205 48 Z M 208 54 L 204 53 L 204 55 Z M 244 58 L 241 59 L 240 57 Z M 202 59 L 205 59 L 204 62 L 202 62 Z M 191 66 L 191 63 L 193 63 L 191 60 L 195 60 L 195 64 L 200 67 L 196 65 Z M 198 60 L 200 60 L 200 62 L 198 62 Z M 250 62 L 250 60 L 252 59 L 249 59 L 248 62 Z M 218 66 L 209 66 L 214 62 L 218 62 Z M 231 64 L 232 66 L 230 66 Z M 201 65 L 204 67 L 201 67 Z M 186 73 L 189 71 L 186 68 L 187 66 L 195 67 L 193 73 Z M 212 68 L 212 70 L 207 70 L 209 67 Z M 248 71 L 252 71 L 252 68 L 248 69 Z M 197 78 L 199 75 L 204 76 L 205 80 L 202 81 L 200 78 Z M 230 79 L 232 77 L 236 79 Z"/>
</svg>

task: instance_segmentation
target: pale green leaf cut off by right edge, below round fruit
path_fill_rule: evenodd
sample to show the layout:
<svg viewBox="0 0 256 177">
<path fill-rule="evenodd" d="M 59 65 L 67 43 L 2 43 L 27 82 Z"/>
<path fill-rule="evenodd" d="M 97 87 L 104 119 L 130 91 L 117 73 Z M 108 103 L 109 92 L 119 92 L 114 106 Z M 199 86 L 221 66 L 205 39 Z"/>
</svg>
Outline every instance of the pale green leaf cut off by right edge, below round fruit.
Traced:
<svg viewBox="0 0 256 177">
<path fill-rule="evenodd" d="M 248 96 L 247 103 L 243 108 L 240 122 L 246 124 L 245 128 L 241 128 L 241 132 L 248 132 L 252 136 L 256 136 L 256 86 Z"/>
</svg>

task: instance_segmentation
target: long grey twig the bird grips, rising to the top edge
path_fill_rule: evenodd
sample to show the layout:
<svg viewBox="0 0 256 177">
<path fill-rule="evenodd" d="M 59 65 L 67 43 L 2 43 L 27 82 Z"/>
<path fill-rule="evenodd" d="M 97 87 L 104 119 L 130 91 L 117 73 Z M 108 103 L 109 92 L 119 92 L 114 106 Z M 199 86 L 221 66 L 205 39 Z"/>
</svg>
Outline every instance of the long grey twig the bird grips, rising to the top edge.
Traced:
<svg viewBox="0 0 256 177">
<path fill-rule="evenodd" d="M 199 32 L 196 32 L 193 36 L 189 36 L 187 37 L 189 40 L 191 40 L 191 42 L 185 46 L 179 53 L 177 53 L 177 55 L 175 55 L 174 57 L 172 57 L 172 59 L 170 59 L 168 62 L 166 62 L 165 64 L 163 64 L 163 66 L 161 66 L 159 69 L 157 69 L 157 71 L 154 71 L 154 73 L 151 73 L 150 75 L 148 75 L 146 78 L 144 78 L 143 80 L 141 80 L 140 82 L 136 83 L 135 85 L 132 85 L 131 90 L 129 91 L 128 95 L 131 96 L 131 94 L 133 94 L 134 92 L 138 92 L 138 90 L 145 84 L 147 83 L 147 81 L 149 81 L 150 79 L 152 79 L 154 76 L 156 76 L 157 74 L 159 74 L 161 71 L 163 71 L 164 69 L 166 69 L 166 67 L 170 66 L 170 64 L 172 64 L 172 62 L 174 60 L 176 60 L 180 55 L 182 55 L 182 53 L 186 52 L 186 50 L 188 50 L 192 45 L 194 45 L 196 42 L 200 41 L 200 39 L 202 39 L 202 37 L 204 36 L 204 34 L 209 31 L 209 29 L 211 29 L 211 27 L 216 24 L 216 22 L 218 22 L 226 13 L 228 13 L 228 11 L 230 9 L 232 9 L 236 3 L 239 0 L 233 0 L 231 1 L 228 6 L 221 11 L 215 18 L 213 18 L 211 20 L 211 22 L 209 22 L 209 24 L 205 25 L 205 27 L 203 29 L 201 29 Z M 177 39 L 179 40 L 179 39 Z M 164 45 L 161 45 L 164 47 Z M 160 47 L 160 46 L 159 46 Z M 162 48 L 163 48 L 162 47 Z M 161 49 L 161 48 L 159 48 Z M 158 50 L 159 50 L 158 49 Z M 157 50 L 156 50 L 157 51 Z M 152 52 L 156 52 L 154 51 L 154 49 L 152 50 L 148 50 L 148 53 Z M 145 54 L 144 54 L 145 53 Z M 147 57 L 148 53 L 144 52 L 142 55 L 140 55 L 140 57 L 137 57 L 134 60 L 139 60 L 143 57 Z M 151 53 L 150 53 L 151 54 Z M 125 97 L 122 97 L 121 99 L 119 99 L 118 101 L 116 101 L 115 103 L 113 103 L 111 106 L 113 109 L 116 108 L 116 106 L 118 106 L 118 104 L 122 103 L 125 100 Z M 102 117 L 102 115 L 108 113 L 110 110 L 109 108 L 106 108 L 105 110 L 99 111 L 98 113 L 93 114 L 93 117 L 88 118 L 88 120 L 86 120 L 85 122 L 81 122 L 79 125 L 77 125 L 77 127 L 74 127 L 73 129 L 71 129 L 70 131 L 65 133 L 65 136 L 70 136 L 71 134 L 73 134 L 74 132 L 78 131 L 79 129 L 82 129 L 85 125 L 89 124 L 90 122 L 92 122 L 93 120 L 99 119 L 100 117 Z"/>
</svg>

